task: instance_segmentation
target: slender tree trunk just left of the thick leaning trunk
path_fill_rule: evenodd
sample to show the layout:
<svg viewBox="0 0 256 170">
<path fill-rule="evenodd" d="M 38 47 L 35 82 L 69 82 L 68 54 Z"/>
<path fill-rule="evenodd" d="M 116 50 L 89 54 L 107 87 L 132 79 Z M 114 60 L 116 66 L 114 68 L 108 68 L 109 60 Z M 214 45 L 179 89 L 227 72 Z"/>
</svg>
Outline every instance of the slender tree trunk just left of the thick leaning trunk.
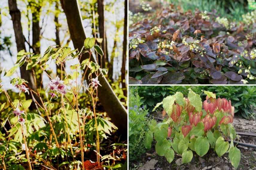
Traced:
<svg viewBox="0 0 256 170">
<path fill-rule="evenodd" d="M 55 4 L 55 10 L 58 11 L 59 10 L 59 2 L 56 1 L 56 4 Z M 61 46 L 60 44 L 60 23 L 59 23 L 59 17 L 58 17 L 58 13 L 55 14 L 54 16 L 54 23 L 55 23 L 55 36 L 56 36 L 56 39 L 55 39 L 55 43 L 57 46 Z M 61 64 L 57 65 L 56 64 L 56 73 L 59 77 L 61 77 Z"/>
</svg>

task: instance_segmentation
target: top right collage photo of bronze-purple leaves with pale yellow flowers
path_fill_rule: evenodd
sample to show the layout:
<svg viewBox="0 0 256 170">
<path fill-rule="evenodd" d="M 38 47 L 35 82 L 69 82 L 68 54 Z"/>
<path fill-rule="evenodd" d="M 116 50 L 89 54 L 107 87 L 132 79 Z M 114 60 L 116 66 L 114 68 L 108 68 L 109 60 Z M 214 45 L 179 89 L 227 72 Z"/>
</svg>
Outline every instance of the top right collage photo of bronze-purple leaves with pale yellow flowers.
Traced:
<svg viewBox="0 0 256 170">
<path fill-rule="evenodd" d="M 256 84 L 255 0 L 129 0 L 129 84 Z"/>
</svg>

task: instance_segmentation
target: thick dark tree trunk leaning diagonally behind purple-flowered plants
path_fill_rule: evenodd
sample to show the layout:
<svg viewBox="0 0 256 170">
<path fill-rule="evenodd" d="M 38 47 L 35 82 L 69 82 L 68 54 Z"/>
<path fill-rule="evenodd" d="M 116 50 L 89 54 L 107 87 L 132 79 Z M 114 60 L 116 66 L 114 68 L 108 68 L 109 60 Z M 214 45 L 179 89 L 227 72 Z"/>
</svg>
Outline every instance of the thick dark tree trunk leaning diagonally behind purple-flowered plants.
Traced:
<svg viewBox="0 0 256 170">
<path fill-rule="evenodd" d="M 77 49 L 82 49 L 84 40 L 86 39 L 84 27 L 82 23 L 82 18 L 80 14 L 80 7 L 77 0 L 61 0 L 62 7 L 66 14 L 68 28 L 73 41 L 74 47 Z M 89 58 L 89 53 L 83 53 L 80 62 Z M 92 61 L 95 59 L 91 57 Z M 88 80 L 87 72 L 86 79 Z M 113 123 L 118 127 L 118 129 L 127 135 L 127 110 L 118 100 L 113 89 L 109 85 L 108 81 L 104 77 L 103 73 L 100 72 L 98 77 L 100 84 L 102 86 L 98 87 L 98 97 L 103 105 L 104 109 L 108 113 L 109 117 L 112 119 Z"/>
</svg>

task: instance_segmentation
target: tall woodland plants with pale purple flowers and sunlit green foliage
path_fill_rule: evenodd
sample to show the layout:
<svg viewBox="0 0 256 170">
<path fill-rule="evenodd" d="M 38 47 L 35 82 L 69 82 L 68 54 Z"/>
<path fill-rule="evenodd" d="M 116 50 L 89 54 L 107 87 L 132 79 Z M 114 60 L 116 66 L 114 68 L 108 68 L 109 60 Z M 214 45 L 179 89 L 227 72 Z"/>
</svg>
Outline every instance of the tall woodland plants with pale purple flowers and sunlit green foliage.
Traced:
<svg viewBox="0 0 256 170">
<path fill-rule="evenodd" d="M 95 44 L 95 38 L 86 38 L 84 47 L 81 50 L 50 46 L 42 56 L 22 50 L 17 54 L 17 62 L 14 67 L 10 70 L 5 70 L 4 76 L 11 76 L 16 72 L 16 69 L 23 65 L 33 73 L 35 72 L 35 67 L 39 67 L 50 78 L 50 82 L 45 90 L 41 89 L 41 86 L 40 88 L 31 89 L 28 81 L 19 77 L 13 78 L 10 83 L 19 89 L 19 98 L 13 101 L 0 84 L 0 93 L 4 93 L 6 96 L 6 102 L 0 105 L 0 111 L 4 110 L 1 112 L 6 113 L 1 115 L 4 115 L 2 117 L 4 122 L 1 127 L 6 124 L 10 126 L 8 139 L 6 138 L 7 140 L 0 147 L 0 156 L 4 169 L 22 169 L 23 166 L 18 164 L 8 167 L 11 165 L 10 161 L 12 163 L 16 162 L 13 156 L 17 153 L 17 148 L 21 146 L 26 156 L 20 156 L 23 162 L 28 162 L 28 169 L 30 170 L 32 166 L 34 167 L 37 164 L 34 164 L 33 161 L 31 162 L 31 157 L 42 161 L 45 167 L 50 169 L 57 169 L 61 166 L 64 169 L 86 169 L 88 168 L 87 166 L 101 169 L 105 166 L 103 164 L 105 159 L 100 156 L 100 142 L 102 141 L 101 139 L 107 138 L 107 135 L 111 135 L 112 130 L 117 129 L 117 127 L 107 118 L 102 118 L 102 114 L 96 112 L 97 87 L 101 86 L 98 76 L 104 76 L 100 75 L 99 70 L 105 73 L 107 70 L 101 69 L 98 64 L 90 61 L 92 57 L 90 49 L 92 47 L 99 55 L 103 55 L 100 46 Z M 89 53 L 90 57 L 83 60 L 81 64 L 72 65 L 70 67 L 71 73 L 67 73 L 64 67 L 65 62 L 74 58 L 80 60 L 82 54 L 86 52 Z M 53 78 L 47 73 L 49 62 L 61 65 L 60 77 Z M 80 82 L 78 81 L 78 76 L 81 72 L 83 75 Z M 88 78 L 90 82 L 84 85 L 83 81 L 86 72 L 89 72 Z M 39 85 L 40 82 L 36 82 L 35 74 L 33 76 L 35 84 Z M 81 106 L 84 105 L 80 105 L 78 100 L 82 88 L 86 89 L 88 97 L 90 96 L 91 98 L 91 104 L 89 107 L 85 105 L 86 108 L 82 108 Z M 25 95 L 22 93 L 31 95 L 32 99 L 25 100 Z M 59 100 L 59 103 L 55 103 L 55 100 Z M 33 112 L 29 109 L 32 102 L 36 107 Z M 79 132 L 79 147 L 76 137 L 77 132 Z M 73 142 L 77 143 L 76 147 L 74 147 Z M 89 160 L 84 162 L 84 152 L 92 149 L 91 145 L 93 148 L 95 147 L 97 161 L 95 163 L 91 163 Z M 117 147 L 126 146 L 118 145 L 118 143 L 115 143 L 115 145 Z M 77 152 L 80 152 L 81 161 L 75 160 Z M 8 161 L 9 165 L 6 162 L 7 157 L 12 157 Z M 48 158 L 50 158 L 50 162 L 47 161 Z M 55 158 L 57 160 L 54 160 Z M 118 160 L 115 156 L 113 159 L 113 164 L 108 162 L 106 165 L 110 169 L 116 166 L 115 160 Z M 58 166 L 56 167 L 56 165 Z M 123 164 L 118 163 L 117 167 L 122 166 Z"/>
</svg>

